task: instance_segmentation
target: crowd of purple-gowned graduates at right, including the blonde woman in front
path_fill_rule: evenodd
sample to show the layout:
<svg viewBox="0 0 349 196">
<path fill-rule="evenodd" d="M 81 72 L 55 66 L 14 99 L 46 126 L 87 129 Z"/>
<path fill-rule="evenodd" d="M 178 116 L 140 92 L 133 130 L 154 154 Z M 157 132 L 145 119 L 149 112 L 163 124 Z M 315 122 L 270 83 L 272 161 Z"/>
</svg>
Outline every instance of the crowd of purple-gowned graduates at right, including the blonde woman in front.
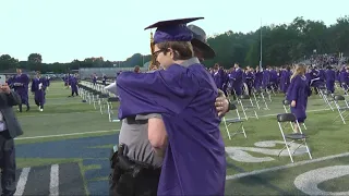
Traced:
<svg viewBox="0 0 349 196">
<path fill-rule="evenodd" d="M 318 94 L 318 89 L 327 89 L 335 93 L 335 84 L 348 91 L 349 66 L 328 65 L 320 69 L 312 65 L 298 64 L 294 66 L 285 65 L 282 68 L 260 69 L 246 66 L 241 69 L 238 63 L 229 70 L 225 70 L 219 64 L 215 64 L 209 70 L 217 87 L 226 95 L 241 96 L 243 94 L 258 90 L 275 90 L 285 94 L 286 99 L 291 105 L 291 112 L 297 117 L 299 123 L 304 123 L 306 119 L 308 97 L 312 95 L 312 89 Z M 294 126 L 297 127 L 297 126 Z M 294 132 L 298 132 L 294 130 Z"/>
</svg>

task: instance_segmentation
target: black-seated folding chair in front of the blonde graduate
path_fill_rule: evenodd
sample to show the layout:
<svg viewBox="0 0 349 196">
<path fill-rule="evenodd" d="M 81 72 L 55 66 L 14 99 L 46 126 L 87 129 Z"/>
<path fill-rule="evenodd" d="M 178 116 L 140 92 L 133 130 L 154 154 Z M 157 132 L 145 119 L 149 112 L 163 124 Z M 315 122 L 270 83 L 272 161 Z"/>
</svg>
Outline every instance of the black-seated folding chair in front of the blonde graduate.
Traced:
<svg viewBox="0 0 349 196">
<path fill-rule="evenodd" d="M 301 127 L 297 121 L 297 118 L 294 114 L 292 113 L 280 113 L 280 114 L 277 114 L 277 123 L 279 125 L 279 130 L 281 132 L 281 135 L 282 135 L 282 138 L 284 138 L 284 143 L 285 143 L 285 147 L 280 150 L 279 155 L 285 150 L 287 149 L 288 151 L 288 155 L 290 156 L 290 159 L 291 159 L 291 162 L 293 162 L 293 158 L 292 158 L 292 155 L 302 146 L 304 145 L 305 149 L 306 149 L 306 152 L 309 155 L 309 158 L 310 159 L 313 159 L 312 158 L 312 155 L 309 150 L 309 147 L 308 147 L 308 144 L 306 144 L 306 138 L 308 136 L 304 135 L 301 131 Z M 299 133 L 292 133 L 292 134 L 285 134 L 285 130 L 287 128 L 287 125 L 290 124 L 289 127 L 291 127 L 292 132 L 293 132 L 293 125 L 292 123 L 296 123 L 296 126 L 298 126 L 298 130 L 299 130 Z M 284 125 L 282 125 L 284 124 Z M 290 128 L 289 128 L 290 130 Z M 297 142 L 301 142 L 301 144 L 297 143 Z M 290 149 L 290 144 L 299 144 L 299 146 L 292 150 L 292 154 L 291 154 L 291 149 Z"/>
</svg>

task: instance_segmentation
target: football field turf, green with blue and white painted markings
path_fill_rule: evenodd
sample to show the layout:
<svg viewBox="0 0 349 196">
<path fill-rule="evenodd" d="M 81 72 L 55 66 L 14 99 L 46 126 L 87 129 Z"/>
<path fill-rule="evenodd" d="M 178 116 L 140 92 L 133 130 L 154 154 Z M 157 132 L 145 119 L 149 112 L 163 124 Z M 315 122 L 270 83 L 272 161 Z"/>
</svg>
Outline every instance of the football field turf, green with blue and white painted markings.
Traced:
<svg viewBox="0 0 349 196">
<path fill-rule="evenodd" d="M 120 123 L 109 122 L 106 113 L 100 114 L 99 106 L 94 109 L 93 105 L 82 102 L 81 97 L 69 95 L 70 89 L 62 82 L 52 83 L 44 112 L 37 110 L 31 96 L 32 110 L 17 113 L 24 130 L 24 135 L 15 139 L 19 183 L 24 184 L 19 195 L 108 194 L 108 157 L 118 143 Z M 227 195 L 349 195 L 345 185 L 349 182 L 348 124 L 334 122 L 338 111 L 326 108 L 320 96 L 310 97 L 306 130 L 302 131 L 309 136 L 313 159 L 301 146 L 292 163 L 287 150 L 278 156 L 285 147 L 276 121 L 277 113 L 285 113 L 281 102 L 279 95 L 266 100 L 268 110 L 260 102 L 258 119 L 243 122 L 246 138 L 237 134 L 229 139 L 221 123 L 228 161 Z M 238 110 L 243 117 L 240 107 Z M 226 119 L 236 114 L 231 111 Z M 239 124 L 230 125 L 230 133 L 238 127 Z M 46 185 L 39 180 L 31 181 L 38 176 L 46 177 L 41 180 Z M 75 182 L 75 188 L 69 185 L 70 181 Z"/>
</svg>

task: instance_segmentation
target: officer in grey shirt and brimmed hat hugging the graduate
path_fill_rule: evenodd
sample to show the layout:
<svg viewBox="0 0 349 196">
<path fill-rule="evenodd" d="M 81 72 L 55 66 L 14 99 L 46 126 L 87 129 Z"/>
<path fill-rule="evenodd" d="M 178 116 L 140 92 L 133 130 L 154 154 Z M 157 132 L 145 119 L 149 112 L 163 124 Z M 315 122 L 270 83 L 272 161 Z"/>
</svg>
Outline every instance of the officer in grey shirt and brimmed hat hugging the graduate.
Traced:
<svg viewBox="0 0 349 196">
<path fill-rule="evenodd" d="M 190 28 L 194 34 L 192 45 L 197 58 L 214 58 L 214 50 L 206 44 L 206 35 L 197 26 Z M 185 62 L 184 62 L 185 63 Z M 190 64 L 186 62 L 186 64 Z M 229 102 L 219 94 L 216 99 L 219 115 L 228 112 Z M 111 156 L 110 195 L 157 195 L 163 156 L 155 152 L 148 139 L 147 119 L 160 118 L 159 114 L 137 115 L 122 120 L 119 135 L 119 148 Z M 116 152 L 117 151 L 117 152 Z"/>
</svg>

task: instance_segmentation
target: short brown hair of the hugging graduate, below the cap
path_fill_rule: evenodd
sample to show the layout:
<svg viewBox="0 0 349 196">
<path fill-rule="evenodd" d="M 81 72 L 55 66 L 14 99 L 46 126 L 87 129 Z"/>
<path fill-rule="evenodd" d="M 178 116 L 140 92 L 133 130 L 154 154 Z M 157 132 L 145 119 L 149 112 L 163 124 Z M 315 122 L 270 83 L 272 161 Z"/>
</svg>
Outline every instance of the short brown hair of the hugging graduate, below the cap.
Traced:
<svg viewBox="0 0 349 196">
<path fill-rule="evenodd" d="M 173 60 L 189 60 L 194 57 L 193 46 L 190 41 L 164 41 L 156 45 L 164 54 L 168 48 L 173 50 Z"/>
</svg>

